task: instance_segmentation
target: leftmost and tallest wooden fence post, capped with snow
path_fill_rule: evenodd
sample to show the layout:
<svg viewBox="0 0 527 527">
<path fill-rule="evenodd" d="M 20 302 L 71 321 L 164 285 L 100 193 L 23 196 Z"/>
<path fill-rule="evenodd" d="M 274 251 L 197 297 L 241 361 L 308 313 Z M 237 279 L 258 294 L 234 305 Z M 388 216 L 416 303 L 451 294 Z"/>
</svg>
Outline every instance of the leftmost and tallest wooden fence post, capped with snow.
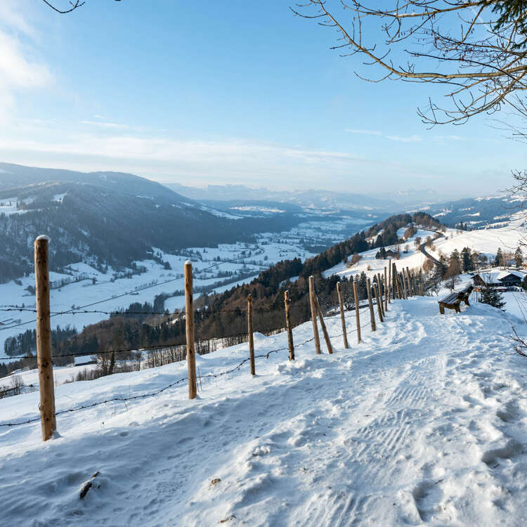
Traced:
<svg viewBox="0 0 527 527">
<path fill-rule="evenodd" d="M 37 365 L 39 368 L 40 420 L 42 440 L 48 441 L 57 429 L 55 386 L 51 362 L 51 322 L 49 308 L 49 238 L 34 241 L 35 301 L 37 303 Z"/>
</svg>

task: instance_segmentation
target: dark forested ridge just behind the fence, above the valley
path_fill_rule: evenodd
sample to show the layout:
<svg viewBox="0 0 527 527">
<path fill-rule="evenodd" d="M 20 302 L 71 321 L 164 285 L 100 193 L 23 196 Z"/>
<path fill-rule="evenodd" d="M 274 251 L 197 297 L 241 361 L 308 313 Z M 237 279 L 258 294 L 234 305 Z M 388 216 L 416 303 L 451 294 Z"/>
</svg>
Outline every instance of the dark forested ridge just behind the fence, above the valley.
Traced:
<svg viewBox="0 0 527 527">
<path fill-rule="evenodd" d="M 226 292 L 210 297 L 207 295 L 200 297 L 196 302 L 196 306 L 200 310 L 195 313 L 197 340 L 230 337 L 232 338 L 231 344 L 234 344 L 240 335 L 245 335 L 247 332 L 245 312 L 249 294 L 252 294 L 253 297 L 255 331 L 270 332 L 284 327 L 283 293 L 286 289 L 289 291 L 289 298 L 291 299 L 292 323 L 298 324 L 308 320 L 310 317 L 307 294 L 307 278 L 309 275 L 315 275 L 315 287 L 321 304 L 323 306 L 335 305 L 337 301 L 334 298 L 335 283 L 339 281 L 339 278 L 336 275 L 324 278 L 323 271 L 349 258 L 356 252 L 378 247 L 379 239 L 390 240 L 389 243 L 399 241 L 397 237 L 393 241 L 392 234 L 390 234 L 384 238 L 379 236 L 375 241 L 368 242 L 367 240 L 375 236 L 379 230 L 386 233 L 396 233 L 399 228 L 407 227 L 408 224 L 412 225 L 413 223 L 419 226 L 441 227 L 441 223 L 429 214 L 416 213 L 391 216 L 389 219 L 372 226 L 372 228 L 330 247 L 312 259 L 304 262 L 298 258 L 280 261 L 268 270 L 263 271 L 249 284 L 233 287 Z M 351 282 L 344 279 L 342 291 L 344 301 L 352 306 Z M 364 273 L 358 277 L 358 292 L 360 299 L 366 297 Z M 128 310 L 116 313 L 110 320 L 88 326 L 81 334 L 71 338 L 62 338 L 64 332 L 55 332 L 53 335 L 54 353 L 65 356 L 70 353 L 72 355 L 97 353 L 108 349 L 108 346 L 111 349 L 137 349 L 158 344 L 183 344 L 185 342 L 184 318 L 180 318 L 177 314 L 171 315 L 168 311 L 166 315 L 157 314 L 162 311 L 163 298 L 160 298 L 160 301 L 155 301 L 154 304 L 131 304 Z M 137 313 L 143 314 L 138 315 Z M 32 353 L 34 346 L 31 343 L 31 337 L 32 335 L 28 334 L 27 338 L 23 340 L 25 347 L 14 346 L 11 342 L 11 351 L 18 355 L 27 352 Z M 199 344 L 198 351 L 200 351 Z M 202 352 L 206 353 L 207 349 L 203 349 Z M 10 368 L 13 367 L 15 364 L 10 365 Z M 5 374 L 7 368 L 4 367 L 4 370 L 6 370 Z"/>
</svg>

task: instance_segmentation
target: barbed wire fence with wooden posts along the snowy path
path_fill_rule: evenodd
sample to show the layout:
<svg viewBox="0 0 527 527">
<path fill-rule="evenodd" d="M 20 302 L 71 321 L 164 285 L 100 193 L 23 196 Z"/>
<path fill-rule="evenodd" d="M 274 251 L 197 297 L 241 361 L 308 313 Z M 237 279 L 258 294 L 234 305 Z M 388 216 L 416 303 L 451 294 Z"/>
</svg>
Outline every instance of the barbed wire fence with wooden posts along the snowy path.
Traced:
<svg viewBox="0 0 527 527">
<path fill-rule="evenodd" d="M 313 277 L 310 277 L 310 301 L 311 301 L 311 320 L 313 321 L 313 337 L 309 339 L 305 339 L 299 344 L 294 344 L 294 340 L 292 338 L 292 326 L 289 324 L 289 320 L 286 320 L 285 324 L 280 325 L 280 327 L 275 327 L 272 329 L 266 330 L 266 332 L 262 332 L 263 334 L 279 334 L 281 332 L 289 332 L 289 342 L 288 346 L 284 346 L 278 349 L 272 349 L 270 351 L 266 351 L 266 353 L 254 355 L 254 347 L 252 343 L 252 311 L 250 307 L 247 310 L 247 322 L 248 327 L 251 331 L 247 332 L 240 332 L 233 335 L 230 335 L 228 337 L 213 337 L 212 339 L 205 339 L 206 341 L 212 341 L 217 339 L 240 339 L 237 344 L 242 344 L 242 342 L 249 341 L 249 357 L 244 358 L 240 361 L 237 365 L 234 365 L 233 367 L 230 367 L 226 370 L 221 370 L 219 372 L 210 372 L 206 375 L 196 375 L 195 372 L 195 335 L 194 335 L 194 326 L 193 326 L 193 287 L 192 287 L 192 263 L 190 261 L 187 261 L 185 264 L 185 297 L 186 297 L 186 309 L 185 309 L 185 322 L 186 322 L 186 343 L 185 344 L 157 344 L 155 346 L 144 346 L 141 347 L 141 349 L 137 348 L 128 348 L 128 349 L 110 349 L 110 350 L 104 350 L 104 351 L 98 351 L 97 353 L 93 354 L 109 354 L 112 353 L 113 356 L 115 356 L 116 353 L 131 353 L 131 352 L 145 352 L 145 351 L 160 351 L 160 350 L 167 350 L 174 347 L 179 347 L 182 350 L 184 349 L 184 353 L 181 353 L 178 355 L 178 360 L 187 360 L 188 363 L 188 375 L 186 377 L 181 377 L 180 379 L 176 379 L 174 382 L 171 382 L 165 386 L 162 386 L 162 388 L 157 389 L 155 391 L 151 391 L 148 393 L 141 393 L 134 396 L 128 396 L 128 397 L 111 397 L 106 398 L 103 401 L 96 401 L 93 403 L 89 403 L 86 405 L 79 405 L 74 408 L 67 408 L 64 410 L 59 410 L 56 412 L 55 410 L 55 396 L 54 396 L 54 386 L 53 386 L 53 365 L 52 365 L 52 359 L 58 358 L 61 356 L 64 357 L 70 357 L 72 356 L 72 353 L 65 353 L 63 355 L 56 355 L 51 356 L 51 323 L 50 318 L 52 315 L 58 315 L 63 313 L 73 313 L 74 310 L 68 310 L 68 311 L 51 311 L 49 309 L 49 287 L 48 287 L 48 261 L 47 261 L 47 244 L 48 240 L 45 237 L 39 237 L 35 241 L 35 268 L 36 268 L 36 278 L 37 278 L 37 287 L 36 287 L 36 308 L 19 308 L 18 306 L 2 306 L 0 308 L 0 311 L 29 311 L 32 313 L 36 313 L 37 315 L 37 365 L 39 369 L 39 379 L 46 379 L 46 372 L 48 373 L 48 382 L 40 382 L 39 383 L 39 391 L 40 391 L 40 404 L 39 404 L 39 410 L 40 410 L 40 416 L 39 417 L 31 417 L 30 419 L 27 419 L 25 421 L 21 422 L 4 422 L 0 423 L 0 427 L 19 427 L 25 424 L 31 424 L 33 422 L 41 421 L 42 424 L 42 434 L 43 439 L 46 441 L 48 438 L 51 438 L 53 436 L 53 433 L 56 431 L 56 417 L 59 415 L 64 415 L 71 412 L 77 412 L 80 410 L 84 410 L 87 408 L 93 408 L 99 405 L 105 405 L 108 403 L 113 402 L 126 402 L 126 401 L 134 401 L 138 399 L 143 398 L 149 398 L 159 395 L 160 393 L 163 393 L 164 391 L 167 391 L 168 389 L 181 384 L 183 382 L 188 382 L 189 385 L 189 398 L 195 398 L 197 393 L 197 381 L 200 382 L 202 379 L 209 379 L 209 378 L 218 378 L 223 377 L 225 375 L 230 375 L 233 372 L 241 370 L 242 366 L 246 363 L 251 363 L 252 365 L 252 375 L 254 375 L 254 364 L 256 359 L 268 359 L 269 356 L 271 356 L 273 353 L 280 353 L 282 351 L 289 351 L 289 360 L 294 360 L 294 348 L 299 348 L 301 346 L 305 346 L 306 344 L 315 341 L 315 348 L 316 352 L 320 353 L 320 344 L 319 344 L 319 336 L 318 336 L 318 323 L 320 323 L 320 327 L 323 330 L 323 334 L 326 340 L 328 353 L 333 353 L 332 345 L 330 343 L 331 339 L 336 339 L 339 337 L 346 337 L 344 339 L 344 345 L 345 348 L 348 348 L 347 343 L 347 334 L 349 332 L 356 332 L 357 333 L 357 341 L 358 344 L 360 344 L 360 330 L 371 326 L 372 331 L 375 331 L 377 329 L 376 322 L 375 322 L 375 311 L 373 309 L 373 306 L 376 305 L 377 309 L 379 311 L 378 317 L 379 321 L 382 322 L 384 320 L 385 316 L 385 308 L 387 309 L 387 306 L 389 304 L 389 301 L 391 298 L 393 299 L 405 299 L 410 296 L 415 296 L 417 294 L 424 294 L 424 290 L 422 288 L 422 275 L 415 275 L 415 273 L 410 273 L 410 270 L 408 268 L 403 269 L 401 272 L 396 271 L 396 264 L 392 263 L 393 265 L 393 282 L 389 282 L 386 280 L 386 270 L 384 273 L 384 280 L 382 280 L 382 276 L 380 274 L 376 275 L 375 282 L 373 282 L 372 285 L 370 285 L 370 281 L 368 280 L 368 288 L 367 288 L 367 305 L 364 306 L 364 309 L 360 306 L 360 301 L 358 299 L 357 291 L 356 291 L 356 282 L 353 282 L 353 292 L 355 294 L 354 298 L 354 306 L 352 308 L 347 308 L 344 310 L 343 304 L 341 301 L 341 293 L 339 287 L 337 287 L 338 297 L 339 297 L 339 305 L 325 305 L 323 306 L 324 313 L 322 309 L 320 308 L 320 304 L 318 302 L 318 297 L 315 294 L 314 287 L 311 287 L 311 284 L 313 283 Z M 43 248 L 44 246 L 44 248 Z M 45 249 L 45 250 L 44 250 Z M 37 251 L 38 254 L 41 256 L 40 260 L 37 260 Z M 217 262 L 214 264 L 216 266 Z M 211 266 L 210 268 L 214 267 Z M 199 270 L 200 272 L 204 271 L 203 269 Z M 391 269 L 390 269 L 391 271 Z M 40 282 L 39 282 L 40 277 Z M 168 280 L 167 282 L 170 282 L 172 280 Z M 157 287 L 157 285 L 156 285 Z M 122 295 L 126 296 L 126 295 Z M 115 297 L 110 297 L 110 299 L 114 299 Z M 250 304 L 250 295 L 249 295 L 249 304 Z M 87 310 L 85 308 L 91 307 L 96 304 L 101 304 L 104 301 L 108 301 L 108 299 L 103 299 L 100 301 L 92 302 L 91 304 L 86 304 L 86 306 L 79 306 L 79 308 L 75 311 L 78 313 L 84 313 Z M 285 295 L 285 304 L 289 302 L 287 294 Z M 289 308 L 301 308 L 305 311 L 304 306 L 288 306 L 286 307 L 286 319 L 288 317 L 287 311 Z M 240 313 L 240 309 L 230 309 L 230 310 L 219 310 L 224 312 L 235 312 Z M 356 314 L 356 327 L 353 330 L 348 330 L 346 328 L 346 320 L 344 313 L 349 311 L 355 311 Z M 360 313 L 365 313 L 366 311 L 370 312 L 370 320 L 360 325 Z M 90 313 L 101 313 L 101 314 L 110 314 L 110 313 L 116 313 L 115 311 L 99 311 L 99 310 L 89 310 L 87 312 Z M 126 313 L 126 311 L 124 312 Z M 120 314 L 124 314 L 120 313 Z M 151 312 L 129 312 L 129 314 L 137 313 L 137 314 L 159 314 L 159 315 L 167 315 L 166 312 L 158 312 L 158 313 L 151 313 Z M 329 335 L 327 334 L 327 330 L 324 323 L 324 318 L 327 317 L 327 313 L 330 313 L 330 316 L 332 317 L 341 317 L 341 323 L 342 323 L 342 332 L 339 334 Z M 298 327 L 299 325 L 306 322 L 305 320 L 300 320 L 299 323 L 295 326 Z M 44 337 L 43 337 L 44 335 Z M 200 341 L 197 341 L 197 348 L 200 349 Z M 213 350 L 214 351 L 214 350 Z M 11 358 L 28 358 L 27 356 L 15 356 Z M 177 362 L 178 360 L 171 360 L 170 362 Z M 49 375 L 49 372 L 51 371 L 51 375 Z M 49 382 L 49 379 L 51 379 L 51 382 Z"/>
</svg>

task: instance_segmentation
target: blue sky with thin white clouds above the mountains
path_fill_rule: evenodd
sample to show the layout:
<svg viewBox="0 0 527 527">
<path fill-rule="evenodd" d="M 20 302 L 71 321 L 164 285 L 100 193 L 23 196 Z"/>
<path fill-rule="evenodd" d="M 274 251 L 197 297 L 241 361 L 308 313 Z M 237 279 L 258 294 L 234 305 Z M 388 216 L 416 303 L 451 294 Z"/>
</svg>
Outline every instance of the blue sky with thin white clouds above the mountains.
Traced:
<svg viewBox="0 0 527 527">
<path fill-rule="evenodd" d="M 449 197 L 496 193 L 525 167 L 524 145 L 486 116 L 427 129 L 417 107 L 443 92 L 359 79 L 334 30 L 289 5 L 86 0 L 60 15 L 0 0 L 0 161 Z"/>
</svg>

